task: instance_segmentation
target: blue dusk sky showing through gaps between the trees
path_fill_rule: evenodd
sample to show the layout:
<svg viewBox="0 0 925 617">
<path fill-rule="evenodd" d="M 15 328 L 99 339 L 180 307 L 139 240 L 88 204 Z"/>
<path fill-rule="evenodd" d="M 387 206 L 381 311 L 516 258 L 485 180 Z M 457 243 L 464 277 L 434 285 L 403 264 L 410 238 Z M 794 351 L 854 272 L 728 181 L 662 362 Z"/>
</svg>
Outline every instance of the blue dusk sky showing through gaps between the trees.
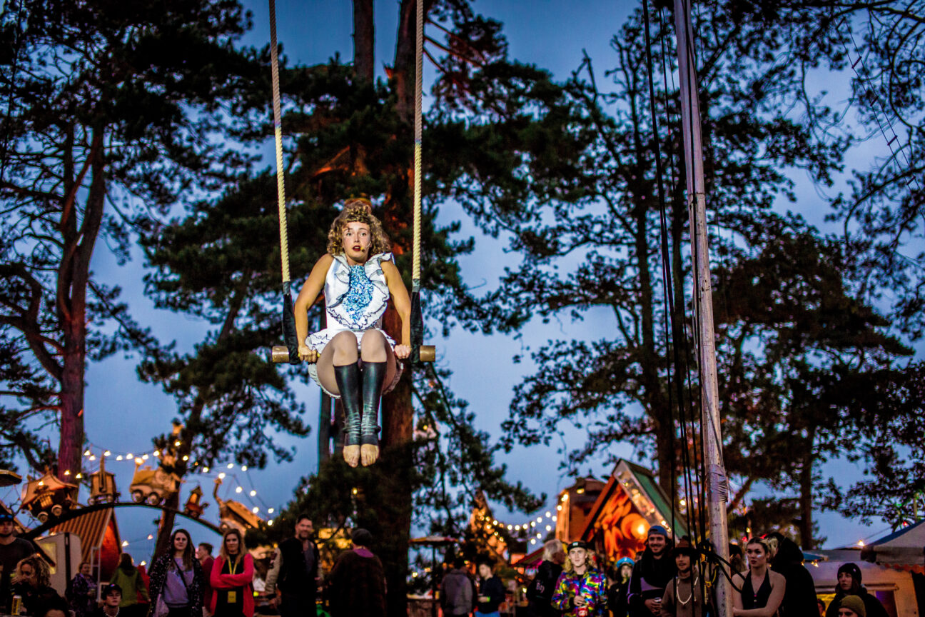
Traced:
<svg viewBox="0 0 925 617">
<path fill-rule="evenodd" d="M 267 22 L 267 6 L 262 1 L 248 1 L 244 3 L 252 12 L 254 28 L 245 38 L 244 43 L 262 46 L 269 41 L 269 27 Z M 398 19 L 399 4 L 394 0 L 390 2 L 376 2 L 376 67 L 378 74 L 383 75 L 383 64 L 391 64 L 395 31 Z M 602 0 L 586 0 L 584 2 L 552 2 L 550 0 L 487 0 L 476 2 L 475 10 L 481 11 L 488 17 L 498 19 L 504 24 L 504 31 L 510 43 L 510 56 L 521 62 L 536 64 L 540 68 L 549 69 L 556 78 L 565 79 L 569 72 L 576 68 L 582 57 L 582 50 L 586 49 L 589 56 L 595 61 L 598 76 L 613 62 L 613 53 L 609 41 L 614 32 L 618 31 L 625 16 L 635 9 L 635 2 L 604 2 Z M 320 0 L 277 0 L 277 34 L 283 44 L 284 53 L 290 63 L 317 64 L 326 62 L 331 56 L 339 53 L 344 61 L 350 61 L 352 56 L 352 6 L 348 0 L 338 2 L 322 2 Z M 433 68 L 425 68 L 425 80 L 433 77 Z M 847 79 L 833 78 L 833 88 L 837 93 L 838 84 L 847 87 Z M 266 93 L 267 100 L 270 93 Z M 836 99 L 837 101 L 837 99 Z M 426 99 L 425 99 L 426 105 Z M 285 131 L 285 126 L 284 126 Z M 271 144 L 267 144 L 269 152 Z M 270 165 L 271 159 L 267 159 Z M 808 199 L 801 204 L 819 204 L 816 209 L 801 212 L 810 222 L 820 224 L 825 214 L 824 202 L 815 191 L 802 178 L 797 178 L 801 191 L 808 193 Z M 805 187 L 805 188 L 804 188 Z M 276 196 L 267 196 L 275 202 Z M 502 261 L 507 259 L 503 253 L 503 240 L 493 240 L 483 236 L 477 229 L 469 224 L 464 214 L 454 204 L 444 204 L 441 216 L 447 222 L 462 220 L 462 237 L 475 236 L 476 249 L 473 255 L 462 259 L 462 272 L 470 286 L 484 285 L 491 289 L 497 285 L 499 274 L 503 267 Z M 299 239 L 290 238 L 290 243 L 298 243 Z M 128 265 L 118 266 L 105 243 L 100 242 L 95 254 L 94 270 L 97 275 L 107 283 L 119 284 L 124 290 L 124 299 L 129 302 L 135 317 L 142 326 L 152 327 L 154 333 L 162 340 L 177 339 L 179 349 L 189 349 L 191 345 L 202 339 L 205 330 L 203 324 L 183 315 L 175 315 L 166 311 L 155 311 L 153 303 L 143 296 L 142 276 L 143 268 L 140 255 Z M 293 284 L 298 289 L 307 273 L 293 272 Z M 440 315 L 425 316 L 438 323 Z M 534 348 L 542 342 L 553 338 L 599 338 L 606 336 L 600 327 L 589 323 L 571 324 L 553 320 L 549 325 L 531 324 L 524 328 L 523 340 L 533 341 Z M 600 323 L 609 324 L 610 321 Z M 604 326 L 607 327 L 607 326 Z M 438 359 L 453 372 L 450 386 L 457 396 L 469 401 L 470 409 L 477 415 L 476 424 L 479 428 L 487 430 L 494 437 L 499 436 L 499 424 L 508 415 L 508 405 L 512 396 L 513 387 L 521 377 L 529 374 L 532 367 L 529 363 L 512 364 L 512 356 L 524 351 L 523 340 L 513 337 L 493 336 L 486 338 L 481 335 L 470 335 L 460 330 L 454 330 L 449 339 L 438 339 Z M 86 397 L 86 430 L 89 440 L 98 448 L 112 450 L 113 454 L 107 460 L 107 468 L 117 474 L 117 483 L 122 491 L 123 498 L 128 498 L 128 487 L 133 469 L 132 463 L 116 462 L 117 454 L 151 453 L 154 450 L 151 438 L 158 433 L 168 432 L 170 420 L 175 417 L 175 403 L 159 388 L 141 384 L 137 381 L 135 366 L 138 359 L 117 356 L 101 364 L 91 364 L 87 372 Z M 720 376 L 722 379 L 722 376 Z M 299 396 L 306 403 L 306 419 L 312 425 L 312 434 L 305 439 L 284 439 L 284 443 L 296 449 L 293 463 L 270 463 L 266 470 L 249 470 L 242 472 L 240 466 L 233 472 L 236 477 L 230 476 L 232 470 L 223 469 L 229 474 L 222 495 L 242 501 L 245 504 L 257 506 L 261 514 L 265 515 L 267 508 L 283 507 L 292 496 L 292 490 L 302 475 L 313 473 L 316 469 L 317 437 L 315 425 L 317 423 L 317 408 L 319 390 L 314 384 L 307 385 L 298 390 Z M 530 449 L 518 448 L 511 454 L 499 454 L 499 463 L 506 463 L 509 469 L 509 479 L 523 481 L 527 487 L 536 493 L 545 492 L 549 496 L 549 505 L 554 504 L 556 493 L 570 484 L 570 480 L 561 475 L 558 469 L 561 455 L 558 448 L 571 450 L 579 446 L 584 438 L 577 429 L 566 431 L 561 438 L 552 440 L 551 448 L 533 447 Z M 56 443 L 56 437 L 52 439 Z M 636 462 L 650 464 L 648 453 L 634 453 L 631 448 L 621 444 L 611 446 L 611 453 L 632 458 Z M 98 456 L 100 450 L 94 450 Z M 637 454 L 641 454 L 637 456 Z M 96 463 L 89 463 L 95 468 Z M 850 465 L 850 463 L 839 463 Z M 218 471 L 218 470 L 215 470 Z M 610 468 L 598 466 L 583 467 L 582 471 L 590 471 L 595 475 L 606 477 Z M 857 470 L 845 474 L 845 480 L 856 478 Z M 213 474 L 203 476 L 203 491 L 208 496 L 206 501 L 213 502 L 211 497 Z M 182 499 L 185 500 L 187 492 L 196 486 L 195 476 L 184 486 Z M 240 494 L 233 492 L 240 486 Z M 257 491 L 257 496 L 251 498 L 251 490 Z M 0 492 L 0 497 L 10 501 L 19 488 L 6 489 Z M 759 489 L 760 494 L 761 489 Z M 81 500 L 85 500 L 85 491 L 81 492 Z M 546 510 L 546 508 L 544 508 Z M 508 514 L 496 510 L 496 517 L 512 524 L 521 523 L 527 514 Z M 152 521 L 156 512 L 142 509 L 122 509 L 117 511 L 118 521 L 123 539 L 129 541 L 126 549 L 132 553 L 136 561 L 149 559 L 154 547 L 153 540 L 147 540 L 149 534 L 154 534 Z M 217 506 L 215 503 L 206 510 L 206 518 L 216 521 Z M 845 521 L 842 517 L 828 513 L 818 514 L 820 532 L 828 537 L 824 548 L 834 548 L 845 544 L 854 544 L 862 537 L 878 537 L 888 531 L 886 525 L 875 522 L 865 527 L 854 522 Z M 195 541 L 214 541 L 202 527 L 182 523 L 190 528 Z"/>
</svg>

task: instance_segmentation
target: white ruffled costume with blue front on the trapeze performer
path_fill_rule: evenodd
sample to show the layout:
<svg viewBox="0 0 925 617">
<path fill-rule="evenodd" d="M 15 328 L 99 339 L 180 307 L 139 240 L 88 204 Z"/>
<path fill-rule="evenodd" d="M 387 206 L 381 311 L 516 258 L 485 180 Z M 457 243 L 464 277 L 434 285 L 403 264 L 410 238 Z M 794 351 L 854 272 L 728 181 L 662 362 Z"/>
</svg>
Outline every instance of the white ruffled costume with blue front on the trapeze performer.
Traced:
<svg viewBox="0 0 925 617">
<path fill-rule="evenodd" d="M 394 351 L 395 340 L 382 329 L 382 315 L 388 308 L 388 284 L 382 271 L 383 261 L 392 261 L 392 253 L 377 253 L 366 260 L 364 265 L 348 265 L 344 255 L 333 255 L 334 261 L 327 268 L 325 275 L 325 312 L 326 328 L 310 334 L 305 344 L 318 352 L 325 350 L 327 343 L 340 332 L 350 330 L 356 335 L 357 345 L 363 340 L 364 332 L 376 329 L 388 340 Z M 401 377 L 401 362 L 395 361 L 395 376 L 390 384 L 382 389 L 383 393 L 395 387 Z M 309 375 L 321 386 L 317 366 L 308 365 Z M 325 389 L 321 386 L 321 389 Z M 331 394 L 325 389 L 327 394 Z"/>
</svg>

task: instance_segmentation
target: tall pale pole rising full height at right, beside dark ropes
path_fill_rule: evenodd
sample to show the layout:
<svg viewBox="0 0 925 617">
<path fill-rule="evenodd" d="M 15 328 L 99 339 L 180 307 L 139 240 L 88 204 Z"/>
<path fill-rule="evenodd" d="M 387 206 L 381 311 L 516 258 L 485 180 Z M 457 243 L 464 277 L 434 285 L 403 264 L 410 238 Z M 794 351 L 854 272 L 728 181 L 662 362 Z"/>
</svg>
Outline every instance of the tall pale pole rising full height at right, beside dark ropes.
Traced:
<svg viewBox="0 0 925 617">
<path fill-rule="evenodd" d="M 709 536 L 717 554 L 729 561 L 729 532 L 726 528 L 728 488 L 722 463 L 719 389 L 716 376 L 716 346 L 713 333 L 713 300 L 709 276 L 707 240 L 707 195 L 703 179 L 703 142 L 700 133 L 700 105 L 697 98 L 694 28 L 690 5 L 674 0 L 674 32 L 678 40 L 678 73 L 681 81 L 681 122 L 685 142 L 687 211 L 690 216 L 691 253 L 694 264 L 694 293 L 697 310 L 697 360 L 700 368 L 700 426 L 709 478 L 707 486 Z M 721 566 L 724 567 L 724 566 Z M 716 604 L 720 617 L 733 614 L 732 589 L 725 576 L 716 581 Z"/>
</svg>

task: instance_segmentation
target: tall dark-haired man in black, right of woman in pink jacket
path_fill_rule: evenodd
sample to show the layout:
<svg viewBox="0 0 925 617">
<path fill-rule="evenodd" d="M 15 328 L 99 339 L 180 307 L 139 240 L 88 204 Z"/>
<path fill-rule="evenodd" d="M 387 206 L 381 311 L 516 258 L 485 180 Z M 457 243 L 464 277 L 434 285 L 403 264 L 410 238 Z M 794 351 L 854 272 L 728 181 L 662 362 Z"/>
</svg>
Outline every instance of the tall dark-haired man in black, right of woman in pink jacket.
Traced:
<svg viewBox="0 0 925 617">
<path fill-rule="evenodd" d="M 300 514 L 295 522 L 295 537 L 279 543 L 273 558 L 273 567 L 266 575 L 265 593 L 277 606 L 277 587 L 281 594 L 279 612 L 282 617 L 314 615 L 314 599 L 318 595 L 318 547 L 312 540 L 314 527 L 307 514 Z"/>
</svg>

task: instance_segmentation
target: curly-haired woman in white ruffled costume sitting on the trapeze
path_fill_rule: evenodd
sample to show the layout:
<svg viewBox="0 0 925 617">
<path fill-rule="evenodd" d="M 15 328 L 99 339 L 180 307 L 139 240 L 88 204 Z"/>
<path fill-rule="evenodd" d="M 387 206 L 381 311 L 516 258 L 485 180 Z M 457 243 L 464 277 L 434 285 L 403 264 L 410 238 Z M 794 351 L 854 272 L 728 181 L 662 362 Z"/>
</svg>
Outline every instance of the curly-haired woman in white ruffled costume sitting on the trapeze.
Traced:
<svg viewBox="0 0 925 617">
<path fill-rule="evenodd" d="M 364 199 L 350 199 L 327 233 L 327 253 L 295 301 L 299 357 L 314 381 L 344 407 L 344 461 L 351 467 L 379 456 L 379 401 L 411 355 L 411 300 L 388 253 L 382 224 Z M 308 334 L 308 308 L 325 292 L 327 327 Z M 401 344 L 382 330 L 388 298 L 401 316 Z"/>
</svg>

